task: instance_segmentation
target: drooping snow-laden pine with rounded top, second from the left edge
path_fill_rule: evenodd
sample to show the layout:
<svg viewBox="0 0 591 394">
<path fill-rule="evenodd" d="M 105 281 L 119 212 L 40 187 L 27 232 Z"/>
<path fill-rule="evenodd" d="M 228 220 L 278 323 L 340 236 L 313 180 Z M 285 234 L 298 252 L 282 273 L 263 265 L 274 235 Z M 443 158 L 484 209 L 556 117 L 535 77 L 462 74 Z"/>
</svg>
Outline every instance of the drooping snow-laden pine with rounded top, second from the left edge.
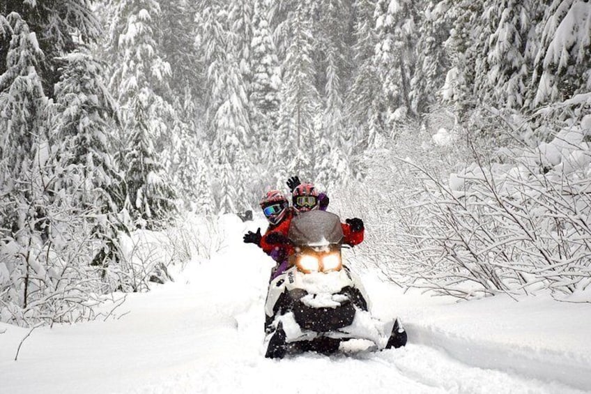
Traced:
<svg viewBox="0 0 591 394">
<path fill-rule="evenodd" d="M 125 180 L 109 146 L 116 139 L 116 103 L 104 83 L 104 64 L 91 54 L 76 52 L 59 61 L 63 66 L 55 86 L 52 146 L 63 152 L 63 165 L 77 168 L 75 179 L 71 174 L 58 176 L 59 188 L 72 196 L 77 213 L 92 227 L 91 264 L 100 267 L 105 278 L 122 259 L 117 233 L 128 231 L 118 220 Z"/>
</svg>

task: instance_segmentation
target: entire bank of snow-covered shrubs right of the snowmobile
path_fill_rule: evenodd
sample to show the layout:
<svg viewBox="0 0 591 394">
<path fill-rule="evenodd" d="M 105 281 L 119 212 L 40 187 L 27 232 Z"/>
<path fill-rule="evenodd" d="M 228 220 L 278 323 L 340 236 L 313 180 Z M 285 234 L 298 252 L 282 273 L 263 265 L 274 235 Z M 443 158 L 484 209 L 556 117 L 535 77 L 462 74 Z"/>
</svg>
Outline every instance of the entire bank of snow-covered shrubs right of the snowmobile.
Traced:
<svg viewBox="0 0 591 394">
<path fill-rule="evenodd" d="M 332 206 L 364 219 L 360 253 L 395 282 L 462 298 L 584 291 L 591 284 L 588 123 L 558 129 L 533 149 L 521 143 L 494 154 L 473 132 L 432 144 L 437 126 L 414 131 L 412 140 L 403 130 L 367 157 L 368 176 L 348 191 L 351 202 L 335 196 Z M 499 130 L 498 140 L 510 141 L 502 134 L 512 130 Z"/>
</svg>

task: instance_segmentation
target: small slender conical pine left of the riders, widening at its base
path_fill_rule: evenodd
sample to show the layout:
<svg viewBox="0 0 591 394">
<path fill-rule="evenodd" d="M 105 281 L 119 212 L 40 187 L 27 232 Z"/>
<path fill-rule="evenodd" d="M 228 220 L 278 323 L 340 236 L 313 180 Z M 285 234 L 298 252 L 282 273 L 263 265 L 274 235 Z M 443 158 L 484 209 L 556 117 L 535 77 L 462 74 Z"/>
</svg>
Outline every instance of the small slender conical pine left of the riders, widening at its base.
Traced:
<svg viewBox="0 0 591 394">
<path fill-rule="evenodd" d="M 137 227 L 162 229 L 176 213 L 176 191 L 154 151 L 151 139 L 148 109 L 150 89 L 135 93 L 132 101 L 133 123 L 130 125 L 130 148 L 125 154 L 128 167 L 125 180 L 128 184 L 128 211 Z"/>
</svg>

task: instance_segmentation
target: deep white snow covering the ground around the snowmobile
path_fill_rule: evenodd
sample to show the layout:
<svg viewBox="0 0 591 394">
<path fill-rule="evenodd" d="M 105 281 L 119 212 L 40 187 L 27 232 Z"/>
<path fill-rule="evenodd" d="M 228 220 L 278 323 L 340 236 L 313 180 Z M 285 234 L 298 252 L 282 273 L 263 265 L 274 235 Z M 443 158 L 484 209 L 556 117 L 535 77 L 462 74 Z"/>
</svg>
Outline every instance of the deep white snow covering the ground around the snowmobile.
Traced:
<svg viewBox="0 0 591 394">
<path fill-rule="evenodd" d="M 128 295 L 107 321 L 36 328 L 17 361 L 29 330 L 0 324 L 0 393 L 591 393 L 589 303 L 457 303 L 403 294 L 371 272 L 373 312 L 403 319 L 406 347 L 266 359 L 273 263 L 242 242 L 264 223 L 224 220 L 212 259 Z"/>
</svg>

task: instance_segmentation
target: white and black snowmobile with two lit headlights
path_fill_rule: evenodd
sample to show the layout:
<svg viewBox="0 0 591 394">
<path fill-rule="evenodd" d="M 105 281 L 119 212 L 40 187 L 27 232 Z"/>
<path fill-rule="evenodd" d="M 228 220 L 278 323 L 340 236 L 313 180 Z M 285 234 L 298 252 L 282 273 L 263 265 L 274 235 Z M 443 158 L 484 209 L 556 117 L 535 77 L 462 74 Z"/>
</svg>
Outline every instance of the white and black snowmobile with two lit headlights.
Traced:
<svg viewBox="0 0 591 394">
<path fill-rule="evenodd" d="M 343 229 L 339 216 L 309 211 L 291 221 L 288 233 L 295 253 L 289 268 L 269 285 L 266 357 L 317 351 L 332 354 L 341 342 L 369 340 L 371 349 L 406 344 L 399 319 L 371 316 L 360 280 L 343 264 Z"/>
</svg>

